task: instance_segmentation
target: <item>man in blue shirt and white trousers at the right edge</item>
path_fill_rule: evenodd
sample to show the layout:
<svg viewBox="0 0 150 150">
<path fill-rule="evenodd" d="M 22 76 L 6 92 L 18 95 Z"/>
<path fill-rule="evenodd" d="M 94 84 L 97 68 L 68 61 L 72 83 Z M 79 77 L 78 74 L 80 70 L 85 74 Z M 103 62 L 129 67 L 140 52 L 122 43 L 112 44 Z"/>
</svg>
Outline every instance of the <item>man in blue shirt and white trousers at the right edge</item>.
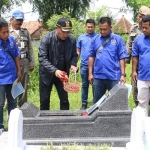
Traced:
<svg viewBox="0 0 150 150">
<path fill-rule="evenodd" d="M 148 116 L 150 99 L 150 14 L 142 19 L 142 31 L 136 37 L 132 50 L 132 78 L 138 87 L 138 106 Z M 138 66 L 138 73 L 136 71 Z"/>
</svg>

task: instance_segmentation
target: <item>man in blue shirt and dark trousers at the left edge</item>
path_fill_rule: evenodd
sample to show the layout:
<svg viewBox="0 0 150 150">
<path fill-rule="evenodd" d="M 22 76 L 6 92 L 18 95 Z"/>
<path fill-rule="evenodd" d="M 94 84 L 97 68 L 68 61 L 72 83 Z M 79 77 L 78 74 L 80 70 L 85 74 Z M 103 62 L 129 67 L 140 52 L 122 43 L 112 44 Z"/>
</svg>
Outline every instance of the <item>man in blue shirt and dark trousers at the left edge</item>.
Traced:
<svg viewBox="0 0 150 150">
<path fill-rule="evenodd" d="M 7 98 L 8 116 L 16 108 L 17 100 L 11 95 L 12 83 L 21 80 L 19 62 L 20 50 L 12 36 L 9 36 L 8 23 L 0 19 L 0 134 L 4 131 L 3 107 Z M 5 98 L 6 96 L 6 98 Z"/>
</svg>

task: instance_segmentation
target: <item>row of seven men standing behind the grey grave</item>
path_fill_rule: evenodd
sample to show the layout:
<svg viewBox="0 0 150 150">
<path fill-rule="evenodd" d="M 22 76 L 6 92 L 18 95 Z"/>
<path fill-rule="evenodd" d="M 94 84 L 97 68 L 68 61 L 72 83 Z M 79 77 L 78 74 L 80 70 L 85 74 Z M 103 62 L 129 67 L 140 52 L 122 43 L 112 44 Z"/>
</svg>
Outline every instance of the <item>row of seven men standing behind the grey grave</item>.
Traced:
<svg viewBox="0 0 150 150">
<path fill-rule="evenodd" d="M 20 10 L 13 12 L 10 27 L 6 20 L 0 19 L 0 132 L 4 131 L 5 100 L 8 117 L 17 104 L 21 107 L 27 102 L 29 71 L 33 71 L 35 66 L 30 34 L 27 29 L 21 28 L 23 20 L 24 13 Z M 81 109 L 87 109 L 89 85 L 92 85 L 95 104 L 107 90 L 126 82 L 125 66 L 132 58 L 134 101 L 147 116 L 150 98 L 150 8 L 142 6 L 137 20 L 125 43 L 120 35 L 113 33 L 109 17 L 99 19 L 99 34 L 95 33 L 95 21 L 87 19 L 86 32 L 77 41 L 70 34 L 72 22 L 68 18 L 60 18 L 55 30 L 43 36 L 38 50 L 40 110 L 50 109 L 53 85 L 60 99 L 60 110 L 69 110 L 68 93 L 61 79 L 78 70 L 78 59 L 81 59 Z M 22 83 L 25 92 L 14 99 L 11 88 L 16 79 Z"/>
</svg>

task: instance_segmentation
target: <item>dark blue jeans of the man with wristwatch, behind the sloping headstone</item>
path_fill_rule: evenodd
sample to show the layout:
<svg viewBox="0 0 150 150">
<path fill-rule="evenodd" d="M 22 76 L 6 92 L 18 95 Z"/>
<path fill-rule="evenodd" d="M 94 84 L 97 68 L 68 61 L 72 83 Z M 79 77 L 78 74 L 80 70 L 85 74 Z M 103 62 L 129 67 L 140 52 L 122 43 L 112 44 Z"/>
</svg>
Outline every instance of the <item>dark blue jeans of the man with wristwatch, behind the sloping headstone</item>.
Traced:
<svg viewBox="0 0 150 150">
<path fill-rule="evenodd" d="M 116 84 L 118 84 L 118 82 L 118 80 L 94 79 L 94 104 L 106 93 L 107 90 L 111 90 Z"/>
</svg>

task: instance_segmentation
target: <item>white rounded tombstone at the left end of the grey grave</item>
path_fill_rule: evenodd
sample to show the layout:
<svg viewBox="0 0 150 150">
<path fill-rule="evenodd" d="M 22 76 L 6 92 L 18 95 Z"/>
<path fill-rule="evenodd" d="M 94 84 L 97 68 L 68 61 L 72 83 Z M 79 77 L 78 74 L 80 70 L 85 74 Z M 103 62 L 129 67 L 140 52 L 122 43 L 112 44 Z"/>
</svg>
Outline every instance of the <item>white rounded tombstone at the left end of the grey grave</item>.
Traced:
<svg viewBox="0 0 150 150">
<path fill-rule="evenodd" d="M 15 108 L 10 112 L 8 123 L 8 150 L 24 150 L 26 142 L 22 139 L 23 116 L 22 111 Z"/>
</svg>

